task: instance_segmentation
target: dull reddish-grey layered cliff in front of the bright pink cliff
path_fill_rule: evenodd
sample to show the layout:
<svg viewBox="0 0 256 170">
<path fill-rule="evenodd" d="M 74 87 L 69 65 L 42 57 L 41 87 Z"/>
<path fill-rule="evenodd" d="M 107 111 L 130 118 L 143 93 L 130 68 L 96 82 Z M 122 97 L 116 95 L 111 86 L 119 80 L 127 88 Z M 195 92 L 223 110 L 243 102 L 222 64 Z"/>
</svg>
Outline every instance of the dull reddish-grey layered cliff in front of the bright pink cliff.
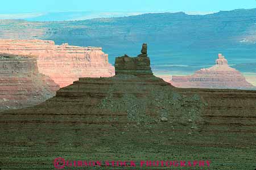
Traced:
<svg viewBox="0 0 256 170">
<path fill-rule="evenodd" d="M 0 110 L 30 107 L 51 98 L 59 86 L 40 74 L 36 59 L 0 54 Z"/>
</svg>

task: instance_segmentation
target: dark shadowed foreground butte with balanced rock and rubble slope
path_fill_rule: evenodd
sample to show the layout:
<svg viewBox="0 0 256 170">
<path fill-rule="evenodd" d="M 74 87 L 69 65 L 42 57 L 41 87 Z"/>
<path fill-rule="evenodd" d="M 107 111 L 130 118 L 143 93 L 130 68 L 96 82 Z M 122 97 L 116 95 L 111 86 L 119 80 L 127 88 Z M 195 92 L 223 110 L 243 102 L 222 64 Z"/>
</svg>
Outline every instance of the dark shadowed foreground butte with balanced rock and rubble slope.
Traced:
<svg viewBox="0 0 256 170">
<path fill-rule="evenodd" d="M 256 91 L 173 87 L 152 75 L 146 48 L 116 58 L 113 77 L 80 78 L 40 105 L 0 113 L 0 168 L 52 169 L 62 157 L 254 169 Z M 182 167 L 191 168 L 202 167 Z"/>
</svg>

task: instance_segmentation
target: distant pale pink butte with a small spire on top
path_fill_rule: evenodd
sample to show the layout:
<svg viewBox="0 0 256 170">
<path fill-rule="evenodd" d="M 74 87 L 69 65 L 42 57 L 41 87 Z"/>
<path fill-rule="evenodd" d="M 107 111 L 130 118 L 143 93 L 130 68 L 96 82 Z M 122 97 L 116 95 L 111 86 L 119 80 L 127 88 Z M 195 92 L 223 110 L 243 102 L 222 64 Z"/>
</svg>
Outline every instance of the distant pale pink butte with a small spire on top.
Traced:
<svg viewBox="0 0 256 170">
<path fill-rule="evenodd" d="M 256 89 L 236 69 L 228 65 L 222 54 L 218 54 L 216 65 L 196 71 L 193 75 L 172 76 L 170 83 L 181 88 L 234 88 Z"/>
</svg>

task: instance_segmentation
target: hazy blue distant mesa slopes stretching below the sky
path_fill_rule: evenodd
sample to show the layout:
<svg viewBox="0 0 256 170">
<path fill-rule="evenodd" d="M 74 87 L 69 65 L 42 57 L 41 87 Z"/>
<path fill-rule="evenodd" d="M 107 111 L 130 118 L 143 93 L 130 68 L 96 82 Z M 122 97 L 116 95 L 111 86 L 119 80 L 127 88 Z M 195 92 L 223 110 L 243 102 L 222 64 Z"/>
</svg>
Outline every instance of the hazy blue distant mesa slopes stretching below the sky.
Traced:
<svg viewBox="0 0 256 170">
<path fill-rule="evenodd" d="M 230 63 L 239 64 L 241 58 L 243 64 L 253 63 L 249 72 L 255 72 L 255 14 L 256 8 L 209 15 L 165 12 L 65 22 L 0 20 L 0 38 L 101 46 L 110 55 L 110 63 L 119 54 L 137 54 L 141 42 L 148 42 L 151 61 L 157 64 L 166 63 L 170 56 L 168 63 L 174 65 L 209 65 L 205 56 L 222 52 L 232 56 Z"/>
</svg>

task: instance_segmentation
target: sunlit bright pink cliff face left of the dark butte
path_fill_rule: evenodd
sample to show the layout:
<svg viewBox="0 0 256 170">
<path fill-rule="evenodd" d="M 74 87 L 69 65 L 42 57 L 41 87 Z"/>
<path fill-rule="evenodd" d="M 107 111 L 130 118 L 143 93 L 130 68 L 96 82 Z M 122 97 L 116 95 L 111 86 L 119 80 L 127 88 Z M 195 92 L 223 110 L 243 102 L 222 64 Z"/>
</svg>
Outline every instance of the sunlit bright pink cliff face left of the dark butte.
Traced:
<svg viewBox="0 0 256 170">
<path fill-rule="evenodd" d="M 113 76 L 108 54 L 99 47 L 55 45 L 45 40 L 0 40 L 0 53 L 35 56 L 39 72 L 48 75 L 60 87 L 81 77 Z"/>
</svg>

